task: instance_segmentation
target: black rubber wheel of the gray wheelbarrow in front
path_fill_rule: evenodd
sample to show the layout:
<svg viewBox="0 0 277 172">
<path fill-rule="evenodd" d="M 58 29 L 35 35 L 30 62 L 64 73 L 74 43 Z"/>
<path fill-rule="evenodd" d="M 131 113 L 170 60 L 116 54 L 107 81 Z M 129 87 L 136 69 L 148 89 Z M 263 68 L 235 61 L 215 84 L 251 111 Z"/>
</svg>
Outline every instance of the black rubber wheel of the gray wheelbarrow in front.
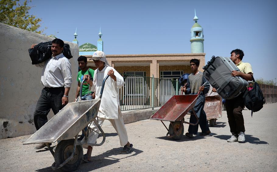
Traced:
<svg viewBox="0 0 277 172">
<path fill-rule="evenodd" d="M 74 139 L 63 140 L 60 143 L 58 143 L 54 154 L 56 167 L 62 164 L 68 157 L 70 157 L 70 155 L 73 152 L 73 147 L 74 147 Z M 83 158 L 83 148 L 81 145 L 77 145 L 75 154 L 72 160 L 68 161 L 67 164 L 61 167 L 61 170 L 63 171 L 77 170 L 82 162 L 82 158 Z"/>
</svg>

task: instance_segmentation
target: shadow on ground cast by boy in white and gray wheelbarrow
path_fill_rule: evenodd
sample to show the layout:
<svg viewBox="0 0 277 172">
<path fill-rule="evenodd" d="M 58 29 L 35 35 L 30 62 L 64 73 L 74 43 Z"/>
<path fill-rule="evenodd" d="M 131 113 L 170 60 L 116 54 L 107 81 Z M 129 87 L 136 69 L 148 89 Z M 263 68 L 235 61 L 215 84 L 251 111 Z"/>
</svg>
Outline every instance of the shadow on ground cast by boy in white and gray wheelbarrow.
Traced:
<svg viewBox="0 0 277 172">
<path fill-rule="evenodd" d="M 75 170 L 75 172 L 88 172 L 88 171 L 92 171 L 92 170 L 96 170 L 111 164 L 115 164 L 117 162 L 119 162 L 122 159 L 131 157 L 131 156 L 136 156 L 140 153 L 142 153 L 143 151 L 132 148 L 131 152 L 129 154 L 122 154 L 120 156 L 122 156 L 121 158 L 114 158 L 112 157 L 113 155 L 119 155 L 120 152 L 122 151 L 122 147 L 118 147 L 118 148 L 113 148 L 109 151 L 104 152 L 103 154 L 97 155 L 92 157 L 92 163 L 85 163 L 82 162 L 82 164 L 80 165 L 78 170 Z M 38 169 L 36 170 L 38 172 L 48 172 L 48 171 L 53 171 L 51 167 L 46 167 L 46 168 L 42 168 L 42 169 Z"/>
</svg>

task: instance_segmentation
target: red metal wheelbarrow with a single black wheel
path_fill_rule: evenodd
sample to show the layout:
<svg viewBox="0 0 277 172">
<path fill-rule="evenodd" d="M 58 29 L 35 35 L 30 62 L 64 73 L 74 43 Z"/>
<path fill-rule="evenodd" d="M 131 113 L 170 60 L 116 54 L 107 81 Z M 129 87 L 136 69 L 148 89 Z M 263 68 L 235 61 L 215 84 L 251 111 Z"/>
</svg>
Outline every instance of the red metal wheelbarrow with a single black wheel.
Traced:
<svg viewBox="0 0 277 172">
<path fill-rule="evenodd" d="M 206 82 L 203 84 L 205 85 Z M 202 85 L 202 86 L 203 86 Z M 198 117 L 193 109 L 198 94 L 188 94 L 188 95 L 174 95 L 172 96 L 155 114 L 153 114 L 150 119 L 163 121 L 170 121 L 169 127 L 167 128 L 163 123 L 163 126 L 167 129 L 167 137 L 173 138 L 174 140 L 180 140 L 184 134 L 184 123 L 190 125 L 198 124 Z M 183 92 L 181 92 L 183 94 Z M 190 123 L 184 121 L 184 116 L 191 111 L 191 115 L 196 117 L 196 123 Z"/>
</svg>

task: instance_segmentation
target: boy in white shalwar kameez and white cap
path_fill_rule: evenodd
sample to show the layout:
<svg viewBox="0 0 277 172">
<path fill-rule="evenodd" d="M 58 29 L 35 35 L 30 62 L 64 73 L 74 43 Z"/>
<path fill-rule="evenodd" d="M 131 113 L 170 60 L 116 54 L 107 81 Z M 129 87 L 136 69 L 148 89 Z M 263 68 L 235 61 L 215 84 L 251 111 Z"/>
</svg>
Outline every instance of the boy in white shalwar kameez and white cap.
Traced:
<svg viewBox="0 0 277 172">
<path fill-rule="evenodd" d="M 128 154 L 133 147 L 128 141 L 128 135 L 124 126 L 122 118 L 120 104 L 119 104 L 119 88 L 121 88 L 125 82 L 121 74 L 119 74 L 114 68 L 110 67 L 106 56 L 103 51 L 95 51 L 93 57 L 89 60 L 93 60 L 96 66 L 94 71 L 93 81 L 90 80 L 89 75 L 84 75 L 84 79 L 88 79 L 86 82 L 91 85 L 91 91 L 94 91 L 95 98 L 100 97 L 100 91 L 102 88 L 103 79 L 109 75 L 105 82 L 101 103 L 98 111 L 99 125 L 102 126 L 105 119 L 109 120 L 117 131 L 120 144 L 123 147 L 121 154 Z M 95 143 L 98 137 L 99 129 L 94 123 L 91 124 L 92 133 L 89 133 L 88 142 Z M 96 131 L 96 132 L 93 132 Z M 85 138 L 84 138 L 85 139 Z M 84 141 L 83 139 L 83 141 Z M 88 149 L 87 154 L 84 155 L 84 161 L 91 162 L 91 146 L 84 145 L 84 148 Z"/>
</svg>

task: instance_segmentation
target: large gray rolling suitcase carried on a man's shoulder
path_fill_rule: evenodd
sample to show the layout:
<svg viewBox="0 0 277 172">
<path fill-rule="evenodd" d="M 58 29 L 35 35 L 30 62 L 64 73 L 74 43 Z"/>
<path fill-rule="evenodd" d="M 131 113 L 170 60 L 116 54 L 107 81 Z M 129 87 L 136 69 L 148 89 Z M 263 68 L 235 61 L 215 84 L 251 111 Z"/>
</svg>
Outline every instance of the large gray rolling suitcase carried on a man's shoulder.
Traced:
<svg viewBox="0 0 277 172">
<path fill-rule="evenodd" d="M 228 57 L 215 57 L 203 67 L 204 77 L 212 87 L 216 88 L 218 94 L 224 99 L 232 99 L 244 92 L 247 81 L 241 77 L 231 76 L 231 71 L 240 71 L 239 68 Z"/>
</svg>

